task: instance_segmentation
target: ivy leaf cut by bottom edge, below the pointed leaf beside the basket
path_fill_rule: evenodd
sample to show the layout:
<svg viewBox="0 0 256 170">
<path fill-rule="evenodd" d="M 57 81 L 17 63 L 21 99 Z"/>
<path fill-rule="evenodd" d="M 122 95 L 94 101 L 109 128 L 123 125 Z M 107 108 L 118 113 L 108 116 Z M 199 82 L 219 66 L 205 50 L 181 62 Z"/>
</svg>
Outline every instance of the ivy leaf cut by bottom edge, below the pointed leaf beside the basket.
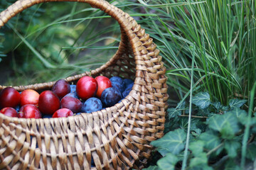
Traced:
<svg viewBox="0 0 256 170">
<path fill-rule="evenodd" d="M 177 162 L 178 157 L 176 157 L 174 154 L 169 153 L 166 154 L 166 157 L 159 159 L 159 161 L 156 164 L 159 166 L 159 169 L 174 170 Z"/>
</svg>

